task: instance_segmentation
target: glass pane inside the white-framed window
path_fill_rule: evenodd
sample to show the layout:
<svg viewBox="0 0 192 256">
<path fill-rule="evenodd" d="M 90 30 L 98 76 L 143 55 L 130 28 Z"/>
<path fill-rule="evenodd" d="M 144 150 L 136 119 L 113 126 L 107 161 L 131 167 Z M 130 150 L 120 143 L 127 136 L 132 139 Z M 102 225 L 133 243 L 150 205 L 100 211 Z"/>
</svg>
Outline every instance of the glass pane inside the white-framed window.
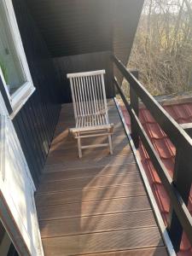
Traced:
<svg viewBox="0 0 192 256">
<path fill-rule="evenodd" d="M 7 84 L 9 94 L 12 95 L 22 86 L 25 81 L 25 75 L 16 54 L 14 41 L 9 29 L 9 23 L 5 14 L 3 3 L 0 0 L 0 67 L 3 72 L 5 83 Z"/>
</svg>

